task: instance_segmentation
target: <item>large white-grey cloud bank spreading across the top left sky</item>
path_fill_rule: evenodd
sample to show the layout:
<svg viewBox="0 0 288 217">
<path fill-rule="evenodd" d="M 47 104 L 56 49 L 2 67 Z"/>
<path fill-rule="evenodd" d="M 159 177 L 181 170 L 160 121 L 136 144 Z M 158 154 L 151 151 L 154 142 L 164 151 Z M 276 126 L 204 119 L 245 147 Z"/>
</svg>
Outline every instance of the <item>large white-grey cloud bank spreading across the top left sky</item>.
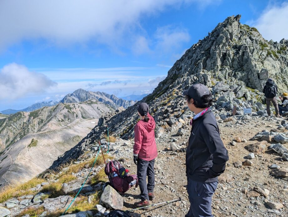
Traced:
<svg viewBox="0 0 288 217">
<path fill-rule="evenodd" d="M 217 0 L 216 2 L 219 2 Z M 22 40 L 46 39 L 52 44 L 67 45 L 95 40 L 114 47 L 121 39 L 139 30 L 142 15 L 153 15 L 168 6 L 180 7 L 195 3 L 199 7 L 214 4 L 212 0 L 2 0 L 0 5 L 0 49 Z M 140 28 L 141 29 L 141 28 Z M 174 36 L 173 36 L 174 34 Z M 160 36 L 161 37 L 161 36 Z M 165 35 L 164 44 L 171 38 L 186 40 L 185 33 Z M 141 49 L 147 50 L 143 38 Z M 116 49 L 116 48 L 115 48 Z"/>
</svg>

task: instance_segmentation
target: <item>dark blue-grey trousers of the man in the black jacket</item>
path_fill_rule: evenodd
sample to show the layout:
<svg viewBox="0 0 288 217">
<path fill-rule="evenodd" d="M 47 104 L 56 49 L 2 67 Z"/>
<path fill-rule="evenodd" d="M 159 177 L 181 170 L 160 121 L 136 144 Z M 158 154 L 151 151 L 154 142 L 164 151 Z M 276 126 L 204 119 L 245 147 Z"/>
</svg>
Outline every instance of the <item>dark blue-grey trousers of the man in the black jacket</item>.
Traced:
<svg viewBox="0 0 288 217">
<path fill-rule="evenodd" d="M 211 217 L 212 195 L 217 188 L 218 182 L 196 182 L 188 178 L 188 196 L 190 209 L 185 217 Z"/>
</svg>

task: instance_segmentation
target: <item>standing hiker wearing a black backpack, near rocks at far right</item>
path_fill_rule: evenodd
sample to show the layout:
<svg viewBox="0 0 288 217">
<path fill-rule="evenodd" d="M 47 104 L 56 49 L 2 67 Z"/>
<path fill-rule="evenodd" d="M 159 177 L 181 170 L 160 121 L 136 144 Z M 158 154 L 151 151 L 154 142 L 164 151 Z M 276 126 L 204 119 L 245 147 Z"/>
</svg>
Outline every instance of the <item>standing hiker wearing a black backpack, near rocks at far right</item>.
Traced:
<svg viewBox="0 0 288 217">
<path fill-rule="evenodd" d="M 271 78 L 268 78 L 267 82 L 263 88 L 263 93 L 265 95 L 266 109 L 267 109 L 267 114 L 269 117 L 271 116 L 271 111 L 270 111 L 271 101 L 273 103 L 273 106 L 275 107 L 276 117 L 280 117 L 279 116 L 279 109 L 278 109 L 278 102 L 276 99 L 277 92 L 278 92 L 277 85 L 275 84 L 275 82 Z"/>
</svg>

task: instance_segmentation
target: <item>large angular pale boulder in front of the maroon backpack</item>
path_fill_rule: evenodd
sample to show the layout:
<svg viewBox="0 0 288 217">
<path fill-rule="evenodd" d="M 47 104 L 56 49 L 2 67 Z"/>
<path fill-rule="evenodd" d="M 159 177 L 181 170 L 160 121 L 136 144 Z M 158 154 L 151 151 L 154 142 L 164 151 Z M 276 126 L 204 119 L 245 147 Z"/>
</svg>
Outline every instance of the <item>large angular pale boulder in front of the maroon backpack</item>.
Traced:
<svg viewBox="0 0 288 217">
<path fill-rule="evenodd" d="M 107 185 L 100 197 L 99 204 L 107 209 L 122 209 L 124 199 L 110 185 Z"/>
</svg>

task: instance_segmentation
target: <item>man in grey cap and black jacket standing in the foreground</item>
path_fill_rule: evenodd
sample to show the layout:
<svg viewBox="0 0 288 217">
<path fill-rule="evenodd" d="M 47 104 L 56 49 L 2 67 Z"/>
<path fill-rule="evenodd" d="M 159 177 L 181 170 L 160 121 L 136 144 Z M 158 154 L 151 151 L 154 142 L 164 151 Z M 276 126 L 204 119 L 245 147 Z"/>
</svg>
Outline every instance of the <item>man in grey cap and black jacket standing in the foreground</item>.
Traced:
<svg viewBox="0 0 288 217">
<path fill-rule="evenodd" d="M 191 134 L 186 152 L 186 174 L 190 209 L 185 217 L 213 216 L 212 196 L 218 176 L 224 172 L 228 151 L 220 138 L 219 127 L 209 106 L 212 95 L 202 84 L 185 90 L 187 105 L 196 115 L 191 120 Z"/>
</svg>

